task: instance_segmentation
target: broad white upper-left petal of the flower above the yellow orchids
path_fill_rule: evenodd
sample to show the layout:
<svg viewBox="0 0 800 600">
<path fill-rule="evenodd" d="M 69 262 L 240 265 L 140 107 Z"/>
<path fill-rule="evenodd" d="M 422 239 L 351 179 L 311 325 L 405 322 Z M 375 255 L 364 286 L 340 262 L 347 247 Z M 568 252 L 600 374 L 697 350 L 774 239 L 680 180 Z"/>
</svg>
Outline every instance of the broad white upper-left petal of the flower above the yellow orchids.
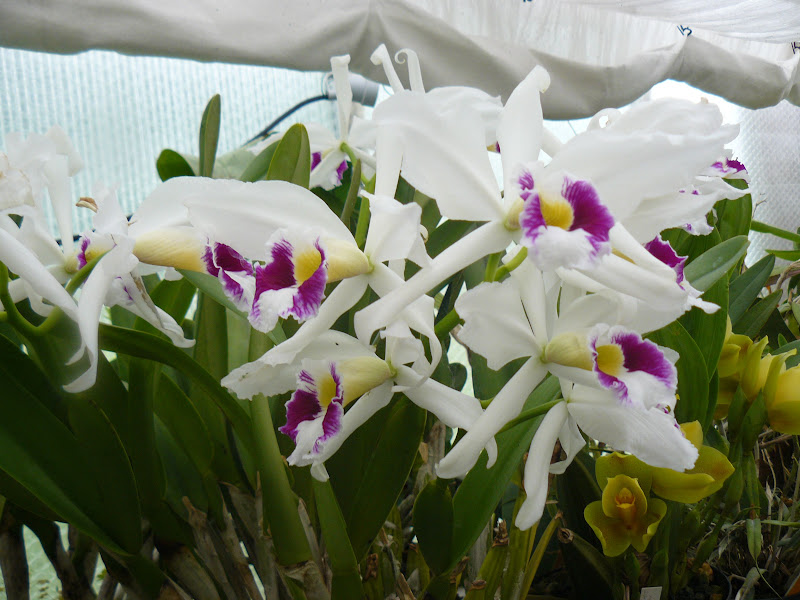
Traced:
<svg viewBox="0 0 800 600">
<path fill-rule="evenodd" d="M 456 312 L 464 319 L 459 341 L 486 358 L 491 369 L 540 353 L 519 293 L 510 280 L 472 288 L 456 300 Z"/>
</svg>

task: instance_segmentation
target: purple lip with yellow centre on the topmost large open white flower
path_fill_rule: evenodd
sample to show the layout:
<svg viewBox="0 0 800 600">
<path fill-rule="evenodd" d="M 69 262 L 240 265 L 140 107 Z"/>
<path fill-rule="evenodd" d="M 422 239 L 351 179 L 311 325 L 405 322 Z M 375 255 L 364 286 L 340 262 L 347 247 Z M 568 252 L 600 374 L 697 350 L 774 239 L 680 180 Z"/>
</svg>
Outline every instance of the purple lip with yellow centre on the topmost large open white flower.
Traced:
<svg viewBox="0 0 800 600">
<path fill-rule="evenodd" d="M 563 176 L 560 192 L 543 190 L 532 173 L 516 179 L 525 204 L 519 216 L 522 243 L 542 270 L 590 268 L 611 251 L 614 218 L 589 181 Z"/>
</svg>

